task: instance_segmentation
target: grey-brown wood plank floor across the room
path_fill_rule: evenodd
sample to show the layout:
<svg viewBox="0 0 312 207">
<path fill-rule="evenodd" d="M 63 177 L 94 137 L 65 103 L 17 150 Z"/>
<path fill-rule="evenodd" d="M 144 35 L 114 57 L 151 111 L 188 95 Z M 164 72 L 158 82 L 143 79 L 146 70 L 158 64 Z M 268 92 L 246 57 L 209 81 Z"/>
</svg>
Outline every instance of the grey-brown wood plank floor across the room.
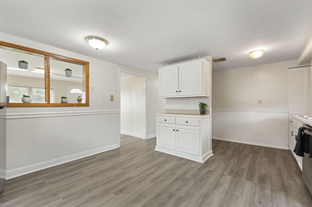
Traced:
<svg viewBox="0 0 312 207">
<path fill-rule="evenodd" d="M 156 138 L 7 181 L 0 207 L 312 207 L 289 150 L 213 140 L 204 164 L 156 152 Z"/>
</svg>

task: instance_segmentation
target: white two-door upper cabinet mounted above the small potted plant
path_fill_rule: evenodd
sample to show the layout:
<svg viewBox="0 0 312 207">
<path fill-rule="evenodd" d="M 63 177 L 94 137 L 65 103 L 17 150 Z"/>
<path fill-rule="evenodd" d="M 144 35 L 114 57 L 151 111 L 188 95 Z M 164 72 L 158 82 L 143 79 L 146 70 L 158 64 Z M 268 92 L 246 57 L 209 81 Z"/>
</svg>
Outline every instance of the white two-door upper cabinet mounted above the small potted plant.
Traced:
<svg viewBox="0 0 312 207">
<path fill-rule="evenodd" d="M 205 59 L 159 69 L 159 97 L 209 97 L 209 62 Z"/>
</svg>

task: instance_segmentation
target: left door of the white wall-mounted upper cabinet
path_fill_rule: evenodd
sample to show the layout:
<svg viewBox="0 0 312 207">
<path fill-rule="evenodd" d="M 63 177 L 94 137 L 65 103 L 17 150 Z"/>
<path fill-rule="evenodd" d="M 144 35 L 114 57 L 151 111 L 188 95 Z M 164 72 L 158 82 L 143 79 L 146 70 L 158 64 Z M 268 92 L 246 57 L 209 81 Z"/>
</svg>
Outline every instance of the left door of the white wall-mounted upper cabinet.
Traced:
<svg viewBox="0 0 312 207">
<path fill-rule="evenodd" d="M 166 67 L 158 70 L 159 97 L 178 96 L 178 67 Z"/>
</svg>

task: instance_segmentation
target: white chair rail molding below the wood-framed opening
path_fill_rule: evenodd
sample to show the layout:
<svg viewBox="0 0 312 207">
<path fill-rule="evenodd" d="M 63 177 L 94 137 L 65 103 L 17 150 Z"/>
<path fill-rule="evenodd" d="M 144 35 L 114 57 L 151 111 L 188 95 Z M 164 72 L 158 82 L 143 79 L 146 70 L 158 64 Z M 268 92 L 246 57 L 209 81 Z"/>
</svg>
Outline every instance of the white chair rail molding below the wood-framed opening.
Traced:
<svg viewBox="0 0 312 207">
<path fill-rule="evenodd" d="M 29 118 L 47 118 L 47 117 L 72 117 L 72 116 L 88 116 L 99 114 L 118 114 L 118 110 L 106 111 L 66 111 L 66 112 L 48 112 L 48 113 L 10 113 L 6 114 L 7 120 L 13 119 L 29 119 Z"/>
</svg>

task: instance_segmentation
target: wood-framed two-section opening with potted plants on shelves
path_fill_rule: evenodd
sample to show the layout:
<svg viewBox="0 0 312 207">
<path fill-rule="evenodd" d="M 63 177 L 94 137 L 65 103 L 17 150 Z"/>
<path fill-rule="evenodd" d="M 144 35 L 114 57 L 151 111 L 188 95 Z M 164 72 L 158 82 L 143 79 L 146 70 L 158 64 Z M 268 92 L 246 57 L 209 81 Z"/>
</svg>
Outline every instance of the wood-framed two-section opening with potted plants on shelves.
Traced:
<svg viewBox="0 0 312 207">
<path fill-rule="evenodd" d="M 89 106 L 89 62 L 3 41 L 0 57 L 7 64 L 7 107 Z M 23 95 L 31 103 L 22 103 Z M 64 96 L 67 103 L 60 103 Z"/>
</svg>

